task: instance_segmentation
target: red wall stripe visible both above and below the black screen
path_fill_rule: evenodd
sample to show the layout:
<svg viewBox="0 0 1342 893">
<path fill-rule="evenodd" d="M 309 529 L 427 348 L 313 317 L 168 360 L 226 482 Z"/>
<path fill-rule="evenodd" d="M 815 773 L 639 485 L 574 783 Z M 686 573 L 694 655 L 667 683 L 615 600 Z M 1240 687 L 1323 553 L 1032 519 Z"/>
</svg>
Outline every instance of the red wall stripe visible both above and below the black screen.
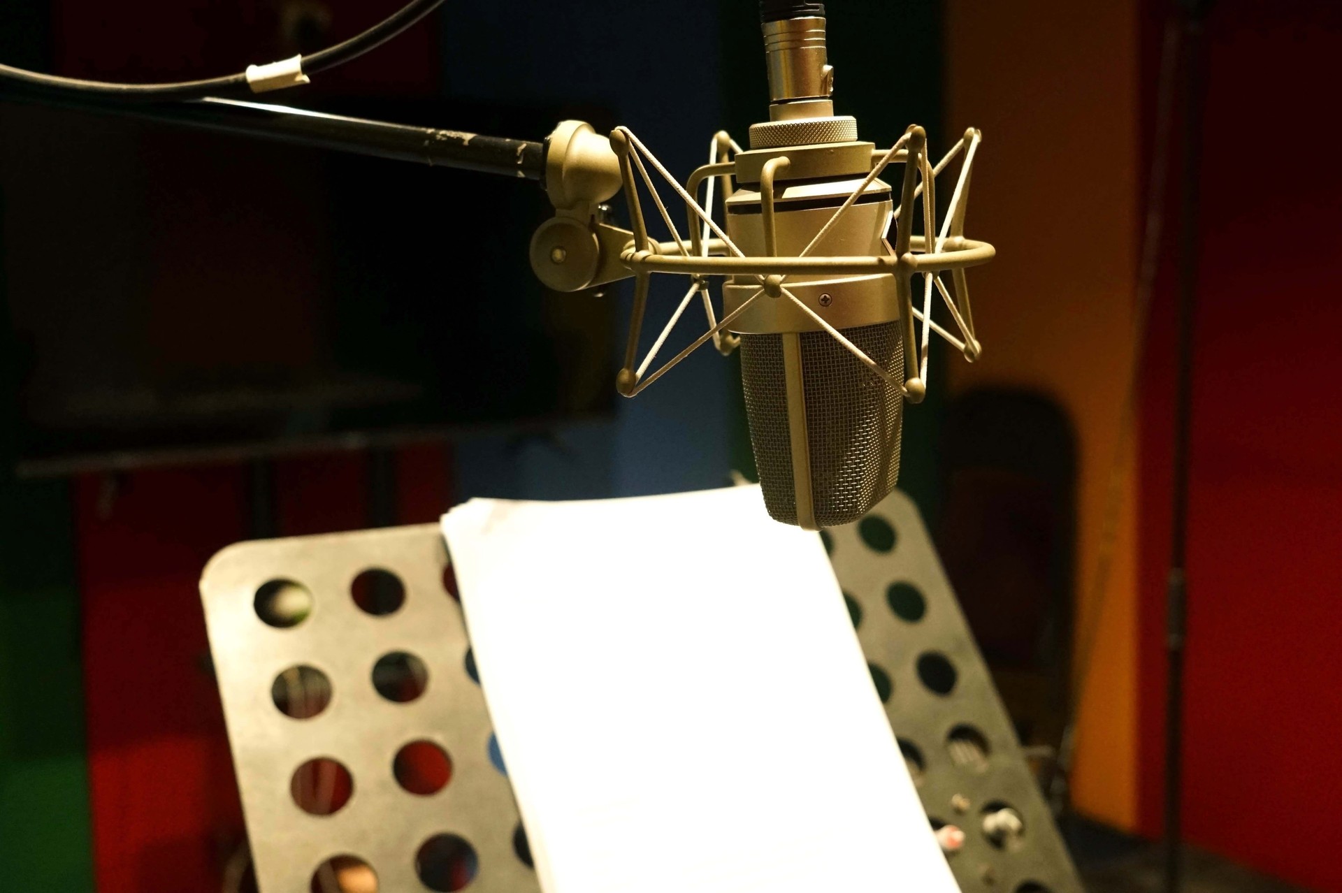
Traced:
<svg viewBox="0 0 1342 893">
<path fill-rule="evenodd" d="M 315 5 L 329 12 L 326 38 L 334 43 L 399 9 L 403 0 Z M 283 8 L 268 0 L 150 0 L 130 8 L 54 0 L 56 70 L 111 80 L 238 71 L 297 51 L 286 38 Z M 429 19 L 393 46 L 278 101 L 303 105 L 318 94 L 433 95 L 442 80 L 440 21 Z M 164 249 L 172 255 L 172 248 Z M 164 259 L 168 268 L 176 260 Z M 158 347 L 203 349 L 191 339 Z M 443 448 L 397 453 L 401 522 L 433 520 L 447 508 L 447 463 Z M 219 695 L 205 669 L 197 581 L 215 551 L 247 535 L 243 469 L 150 471 L 122 476 L 115 485 L 110 480 L 82 480 L 76 508 L 98 889 L 217 890 L 243 823 Z M 366 491 L 360 455 L 279 461 L 279 531 L 365 527 Z"/>
</svg>

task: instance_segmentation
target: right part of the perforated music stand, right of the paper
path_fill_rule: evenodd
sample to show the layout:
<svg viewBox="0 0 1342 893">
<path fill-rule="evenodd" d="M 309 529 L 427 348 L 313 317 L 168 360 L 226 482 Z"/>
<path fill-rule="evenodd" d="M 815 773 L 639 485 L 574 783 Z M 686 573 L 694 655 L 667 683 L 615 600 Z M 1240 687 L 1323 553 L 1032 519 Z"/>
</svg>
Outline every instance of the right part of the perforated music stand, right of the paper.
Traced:
<svg viewBox="0 0 1342 893">
<path fill-rule="evenodd" d="M 923 809 L 964 831 L 947 854 L 961 890 L 1080 893 L 917 505 L 895 491 L 824 536 Z"/>
</svg>

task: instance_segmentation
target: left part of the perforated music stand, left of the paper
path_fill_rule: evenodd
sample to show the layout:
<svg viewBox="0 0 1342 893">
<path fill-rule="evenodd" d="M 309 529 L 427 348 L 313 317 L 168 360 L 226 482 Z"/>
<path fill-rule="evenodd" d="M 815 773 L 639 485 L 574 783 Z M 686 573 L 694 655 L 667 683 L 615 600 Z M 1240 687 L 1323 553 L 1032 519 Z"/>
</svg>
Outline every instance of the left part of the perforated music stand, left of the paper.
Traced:
<svg viewBox="0 0 1342 893">
<path fill-rule="evenodd" d="M 380 613 L 356 603 L 354 581 L 373 569 L 401 583 L 391 611 L 395 594 L 372 605 Z M 263 893 L 307 893 L 319 866 L 338 857 L 366 864 L 382 892 L 429 890 L 417 855 L 431 841 L 456 843 L 448 846 L 456 864 L 437 869 L 440 889 L 456 889 L 472 873 L 471 893 L 539 889 L 523 861 L 513 788 L 491 754 L 497 744 L 446 569 L 436 524 L 239 543 L 205 569 L 205 622 Z M 266 605 L 267 597 L 289 603 Z M 397 680 L 405 661 L 396 658 L 378 669 L 396 654 L 417 658 L 423 673 L 416 666 Z M 283 699 L 294 668 L 303 666 L 326 677 L 330 703 L 294 719 L 275 695 Z M 407 692 L 388 688 L 399 681 L 412 689 L 424 681 L 423 693 L 408 701 L 380 693 L 404 699 Z M 437 744 L 451 759 L 451 779 L 435 794 L 412 794 L 397 782 L 397 752 L 415 741 Z M 348 802 L 329 815 L 295 802 L 299 767 L 313 759 L 334 760 L 352 778 Z M 317 806 L 325 813 L 331 803 Z"/>
</svg>

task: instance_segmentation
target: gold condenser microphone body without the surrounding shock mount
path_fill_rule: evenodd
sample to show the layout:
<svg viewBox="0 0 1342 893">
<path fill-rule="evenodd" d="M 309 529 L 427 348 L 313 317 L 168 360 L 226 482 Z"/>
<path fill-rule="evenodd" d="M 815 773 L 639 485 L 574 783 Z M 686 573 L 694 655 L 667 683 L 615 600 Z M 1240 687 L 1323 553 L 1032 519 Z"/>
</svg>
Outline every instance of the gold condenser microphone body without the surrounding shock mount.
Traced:
<svg viewBox="0 0 1342 893">
<path fill-rule="evenodd" d="M 760 5 L 769 121 L 750 127 L 750 150 L 737 157 L 727 233 L 752 256 L 797 257 L 808 249 L 817 256 L 880 255 L 895 202 L 888 185 L 867 177 L 875 145 L 859 139 L 854 118 L 833 114 L 824 5 Z M 816 240 L 849 200 L 851 208 Z M 741 338 L 765 507 L 776 520 L 812 530 L 847 524 L 884 499 L 899 477 L 903 394 L 891 379 L 903 373 L 906 346 L 895 278 L 792 275 L 786 287 L 813 314 L 796 300 L 766 298 L 730 327 Z M 752 276 L 733 276 L 723 287 L 723 312 L 758 288 Z M 890 378 L 874 375 L 816 316 Z"/>
</svg>

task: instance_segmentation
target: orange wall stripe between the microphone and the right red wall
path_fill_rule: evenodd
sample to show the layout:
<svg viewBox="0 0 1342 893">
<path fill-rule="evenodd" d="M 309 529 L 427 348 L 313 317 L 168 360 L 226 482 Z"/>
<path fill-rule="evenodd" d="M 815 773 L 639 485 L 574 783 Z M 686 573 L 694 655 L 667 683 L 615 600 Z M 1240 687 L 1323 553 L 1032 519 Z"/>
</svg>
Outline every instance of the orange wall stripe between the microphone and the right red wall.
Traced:
<svg viewBox="0 0 1342 893">
<path fill-rule="evenodd" d="M 1121 420 L 1139 239 L 1138 66 L 1135 0 L 946 3 L 945 137 L 984 131 L 966 233 L 998 251 L 970 274 L 984 355 L 951 359 L 950 388 L 1035 389 L 1075 425 L 1076 629 L 1098 634 L 1088 674 L 1076 646 L 1072 794 L 1082 813 L 1125 829 L 1137 817 L 1135 484 Z M 1115 456 L 1122 512 L 1100 594 Z"/>
</svg>

